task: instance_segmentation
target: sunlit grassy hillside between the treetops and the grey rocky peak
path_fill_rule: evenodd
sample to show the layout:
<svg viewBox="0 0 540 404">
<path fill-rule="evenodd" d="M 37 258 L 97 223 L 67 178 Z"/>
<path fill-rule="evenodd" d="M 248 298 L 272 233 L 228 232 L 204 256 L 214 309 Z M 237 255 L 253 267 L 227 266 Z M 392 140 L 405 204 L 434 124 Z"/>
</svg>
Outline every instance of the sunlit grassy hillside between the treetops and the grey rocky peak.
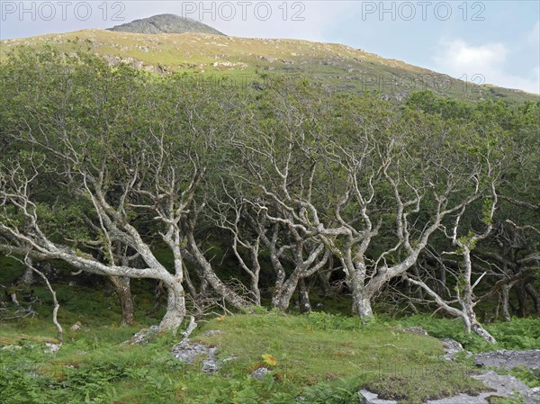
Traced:
<svg viewBox="0 0 540 404">
<path fill-rule="evenodd" d="M 257 73 L 280 72 L 311 77 L 338 90 L 377 90 L 398 99 L 410 91 L 424 89 L 473 101 L 483 98 L 538 99 L 535 94 L 518 90 L 473 85 L 361 49 L 308 40 L 85 30 L 3 40 L 0 59 L 19 45 L 50 45 L 69 52 L 80 44 L 89 46 L 112 63 L 123 60 L 157 73 L 185 73 L 186 79 L 217 86 L 245 85 L 257 79 Z"/>
</svg>

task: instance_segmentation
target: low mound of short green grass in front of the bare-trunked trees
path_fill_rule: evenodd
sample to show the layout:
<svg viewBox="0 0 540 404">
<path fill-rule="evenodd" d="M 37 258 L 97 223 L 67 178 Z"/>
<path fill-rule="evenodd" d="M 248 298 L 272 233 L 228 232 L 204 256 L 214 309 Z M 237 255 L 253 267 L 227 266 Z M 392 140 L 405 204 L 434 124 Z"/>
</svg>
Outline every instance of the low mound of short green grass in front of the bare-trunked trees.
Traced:
<svg viewBox="0 0 540 404">
<path fill-rule="evenodd" d="M 237 371 L 247 374 L 261 355 L 274 355 L 275 373 L 295 386 L 356 378 L 357 387 L 369 387 L 388 398 L 395 391 L 396 399 L 411 403 L 478 391 L 478 384 L 466 376 L 469 369 L 441 359 L 439 341 L 376 323 L 363 328 L 359 319 L 324 313 L 289 317 L 271 313 L 212 320 L 204 329 L 211 328 L 223 332 L 200 340 L 223 346 L 222 355 L 238 356 Z"/>
</svg>

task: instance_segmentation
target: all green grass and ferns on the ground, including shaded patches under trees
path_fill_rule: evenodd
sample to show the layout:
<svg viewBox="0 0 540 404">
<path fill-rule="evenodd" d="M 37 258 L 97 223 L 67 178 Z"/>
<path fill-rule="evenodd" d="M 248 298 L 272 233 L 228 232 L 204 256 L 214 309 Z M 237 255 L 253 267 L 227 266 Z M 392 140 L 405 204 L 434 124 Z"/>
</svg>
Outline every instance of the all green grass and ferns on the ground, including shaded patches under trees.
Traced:
<svg viewBox="0 0 540 404">
<path fill-rule="evenodd" d="M 1 264 L 0 284 L 13 283 L 21 266 L 5 258 Z M 451 319 L 380 317 L 362 327 L 359 319 L 338 314 L 285 316 L 260 309 L 251 315 L 200 321 L 192 339 L 219 346 L 220 359 L 236 357 L 219 373 L 208 375 L 200 371 L 202 358 L 196 364 L 182 364 L 170 354 L 179 337 L 161 335 L 145 346 L 121 344 L 140 328 L 157 324 L 163 314 L 162 309 L 147 314 L 154 306 L 151 283 L 132 282 L 138 324 L 130 328 L 120 327 L 121 310 L 108 283 L 98 288 L 53 286 L 61 303 L 58 319 L 66 330 L 65 344 L 56 355 L 44 352 L 44 343 L 56 337 L 56 329 L 50 321 L 49 292 L 33 286 L 41 301 L 33 306 L 38 315 L 5 321 L 0 327 L 3 403 L 290 404 L 302 396 L 306 404 L 348 404 L 357 402 L 356 391 L 367 388 L 382 398 L 419 404 L 482 389 L 469 377 L 472 362 L 446 362 L 440 341 L 433 337 L 453 337 L 477 352 L 492 349 L 480 338 L 466 336 L 461 322 Z M 313 298 L 315 304 L 317 297 Z M 343 299 L 324 304 L 325 310 L 335 313 L 350 306 Z M 9 303 L 6 308 L 13 309 Z M 83 328 L 69 330 L 76 321 Z M 498 348 L 535 348 L 540 346 L 536 321 L 515 319 L 487 327 L 500 340 Z M 400 329 L 413 325 L 433 337 Z M 205 337 L 211 329 L 221 332 Z M 20 348 L 1 348 L 10 345 Z M 265 364 L 262 355 L 272 355 L 277 362 L 265 380 L 250 379 L 249 374 Z M 512 374 L 536 386 L 537 374 L 525 370 Z"/>
</svg>

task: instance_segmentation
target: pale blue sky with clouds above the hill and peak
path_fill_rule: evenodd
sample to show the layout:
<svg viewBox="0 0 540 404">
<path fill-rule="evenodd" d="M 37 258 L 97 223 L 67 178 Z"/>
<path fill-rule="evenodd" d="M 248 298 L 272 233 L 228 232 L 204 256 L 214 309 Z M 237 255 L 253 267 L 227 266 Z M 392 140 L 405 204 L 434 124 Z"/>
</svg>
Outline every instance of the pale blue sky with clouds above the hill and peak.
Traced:
<svg viewBox="0 0 540 404">
<path fill-rule="evenodd" d="M 476 84 L 540 94 L 540 0 L 0 0 L 0 11 L 2 40 L 174 13 L 231 36 L 337 42 Z"/>
</svg>

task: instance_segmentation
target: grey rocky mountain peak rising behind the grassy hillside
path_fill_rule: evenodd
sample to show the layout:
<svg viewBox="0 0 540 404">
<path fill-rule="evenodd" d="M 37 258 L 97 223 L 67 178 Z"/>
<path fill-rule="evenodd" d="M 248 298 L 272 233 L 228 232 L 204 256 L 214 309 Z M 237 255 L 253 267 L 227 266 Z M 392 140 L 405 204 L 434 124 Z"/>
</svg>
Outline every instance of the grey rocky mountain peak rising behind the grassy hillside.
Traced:
<svg viewBox="0 0 540 404">
<path fill-rule="evenodd" d="M 134 20 L 121 25 L 108 28 L 109 31 L 124 31 L 135 33 L 184 33 L 202 32 L 214 35 L 225 35 L 224 33 L 211 28 L 211 26 L 184 18 L 175 14 L 157 14 L 148 18 Z"/>
</svg>

